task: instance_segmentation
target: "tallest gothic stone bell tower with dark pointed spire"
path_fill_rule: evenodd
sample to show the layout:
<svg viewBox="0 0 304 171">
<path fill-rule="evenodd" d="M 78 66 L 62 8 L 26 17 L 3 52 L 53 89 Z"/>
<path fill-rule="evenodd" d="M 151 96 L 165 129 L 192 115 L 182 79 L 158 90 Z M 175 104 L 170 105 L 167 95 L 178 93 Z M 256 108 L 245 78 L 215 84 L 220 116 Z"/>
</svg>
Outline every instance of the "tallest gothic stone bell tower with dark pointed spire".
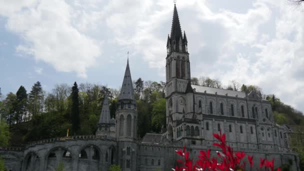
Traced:
<svg viewBox="0 0 304 171">
<path fill-rule="evenodd" d="M 193 113 L 193 90 L 190 84 L 190 61 L 185 31 L 181 31 L 176 4 L 171 33 L 167 37 L 166 55 L 166 121 L 167 138 L 175 139 L 176 121 Z M 191 94 L 189 94 L 191 93 Z M 191 105 L 192 104 L 192 105 Z"/>
</svg>

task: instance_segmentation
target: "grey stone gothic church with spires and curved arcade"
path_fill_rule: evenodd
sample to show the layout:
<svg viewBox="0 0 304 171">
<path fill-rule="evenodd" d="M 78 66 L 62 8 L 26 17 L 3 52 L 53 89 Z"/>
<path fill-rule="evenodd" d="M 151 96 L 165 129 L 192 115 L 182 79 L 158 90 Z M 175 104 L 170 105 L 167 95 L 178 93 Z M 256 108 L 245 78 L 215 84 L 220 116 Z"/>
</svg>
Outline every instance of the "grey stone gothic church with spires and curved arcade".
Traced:
<svg viewBox="0 0 304 171">
<path fill-rule="evenodd" d="M 175 150 L 184 145 L 190 158 L 208 148 L 215 156 L 213 133 L 221 131 L 234 151 L 254 155 L 253 167 L 259 168 L 261 157 L 274 158 L 274 167 L 289 163 L 291 170 L 300 170 L 298 155 L 288 144 L 290 130 L 274 122 L 271 103 L 260 92 L 191 85 L 187 43 L 174 4 L 164 56 L 166 127 L 161 133 L 137 136 L 136 100 L 127 61 L 115 118 L 110 118 L 105 97 L 95 135 L 54 137 L 22 148 L 0 147 L 5 166 L 12 171 L 53 171 L 59 164 L 66 171 L 108 170 L 111 164 L 123 171 L 171 170 L 178 159 Z"/>
</svg>

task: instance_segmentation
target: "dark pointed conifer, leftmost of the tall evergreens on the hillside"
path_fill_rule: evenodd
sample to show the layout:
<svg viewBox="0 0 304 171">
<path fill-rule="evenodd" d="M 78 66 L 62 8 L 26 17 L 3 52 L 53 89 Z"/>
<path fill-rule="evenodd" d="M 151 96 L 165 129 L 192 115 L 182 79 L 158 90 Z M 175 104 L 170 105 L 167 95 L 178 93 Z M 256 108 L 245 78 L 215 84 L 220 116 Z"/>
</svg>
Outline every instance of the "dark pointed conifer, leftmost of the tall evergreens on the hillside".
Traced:
<svg viewBox="0 0 304 171">
<path fill-rule="evenodd" d="M 22 121 L 22 119 L 26 116 L 26 103 L 27 103 L 27 93 L 24 86 L 20 86 L 18 91 L 16 92 L 16 114 L 15 120 L 16 123 Z"/>
</svg>

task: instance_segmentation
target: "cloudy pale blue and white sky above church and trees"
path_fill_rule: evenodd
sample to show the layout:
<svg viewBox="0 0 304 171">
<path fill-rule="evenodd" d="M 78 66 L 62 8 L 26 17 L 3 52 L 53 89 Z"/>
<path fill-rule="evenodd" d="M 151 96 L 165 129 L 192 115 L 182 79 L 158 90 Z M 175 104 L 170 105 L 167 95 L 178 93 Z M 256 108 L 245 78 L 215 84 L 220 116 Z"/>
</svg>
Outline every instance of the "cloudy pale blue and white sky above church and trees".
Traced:
<svg viewBox="0 0 304 171">
<path fill-rule="evenodd" d="M 177 0 L 191 76 L 254 84 L 304 111 L 304 11 L 288 0 Z M 0 87 L 165 81 L 173 0 L 0 0 Z"/>
</svg>

